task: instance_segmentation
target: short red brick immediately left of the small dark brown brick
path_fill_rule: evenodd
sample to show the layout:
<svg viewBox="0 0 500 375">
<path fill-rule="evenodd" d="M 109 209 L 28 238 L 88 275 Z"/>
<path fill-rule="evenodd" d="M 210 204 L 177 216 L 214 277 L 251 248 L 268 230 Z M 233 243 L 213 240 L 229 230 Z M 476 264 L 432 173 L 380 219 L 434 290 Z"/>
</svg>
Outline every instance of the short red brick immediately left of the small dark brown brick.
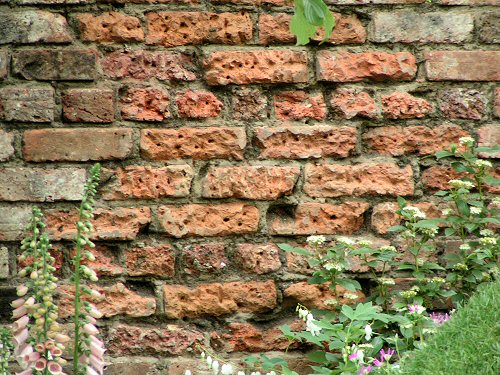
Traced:
<svg viewBox="0 0 500 375">
<path fill-rule="evenodd" d="M 188 90 L 178 94 L 176 102 L 180 117 L 197 119 L 217 117 L 222 110 L 222 102 L 211 92 Z"/>
</svg>

